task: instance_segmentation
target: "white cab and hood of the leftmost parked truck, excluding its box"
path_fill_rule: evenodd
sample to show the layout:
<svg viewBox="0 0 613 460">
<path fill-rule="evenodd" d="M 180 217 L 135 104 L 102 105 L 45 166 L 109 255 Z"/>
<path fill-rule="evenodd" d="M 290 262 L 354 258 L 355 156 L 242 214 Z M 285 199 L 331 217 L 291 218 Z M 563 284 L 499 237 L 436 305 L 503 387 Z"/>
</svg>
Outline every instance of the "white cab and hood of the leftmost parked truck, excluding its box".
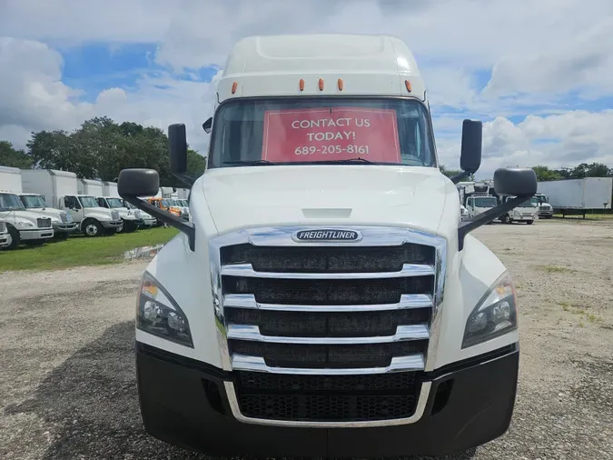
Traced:
<svg viewBox="0 0 613 460">
<path fill-rule="evenodd" d="M 54 236 L 51 217 L 26 210 L 17 194 L 0 191 L 0 219 L 6 225 L 8 237 L 4 247 L 8 249 L 21 243 L 43 245 Z"/>
</svg>

